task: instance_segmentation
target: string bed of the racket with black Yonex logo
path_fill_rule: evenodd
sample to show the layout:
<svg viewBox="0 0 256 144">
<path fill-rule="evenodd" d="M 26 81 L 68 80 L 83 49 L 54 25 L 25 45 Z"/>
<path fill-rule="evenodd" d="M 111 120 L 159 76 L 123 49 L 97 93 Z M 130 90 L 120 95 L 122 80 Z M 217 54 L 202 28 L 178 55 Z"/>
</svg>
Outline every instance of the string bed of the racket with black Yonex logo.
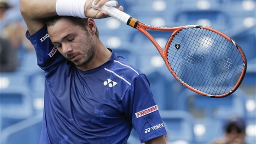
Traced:
<svg viewBox="0 0 256 144">
<path fill-rule="evenodd" d="M 180 49 L 175 49 L 175 44 L 180 44 Z M 168 49 L 168 62 L 186 84 L 213 95 L 231 91 L 243 70 L 237 47 L 203 28 L 185 28 L 176 33 Z"/>
</svg>

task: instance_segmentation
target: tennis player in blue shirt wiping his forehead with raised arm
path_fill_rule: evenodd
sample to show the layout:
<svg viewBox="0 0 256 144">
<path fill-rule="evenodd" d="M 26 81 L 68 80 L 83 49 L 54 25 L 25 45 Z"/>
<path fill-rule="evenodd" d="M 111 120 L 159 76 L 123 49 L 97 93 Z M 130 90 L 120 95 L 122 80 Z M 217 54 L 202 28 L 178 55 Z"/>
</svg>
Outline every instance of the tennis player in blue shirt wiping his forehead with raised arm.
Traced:
<svg viewBox="0 0 256 144">
<path fill-rule="evenodd" d="M 102 44 L 92 18 L 107 17 L 107 12 L 91 4 L 20 0 L 26 36 L 45 71 L 40 144 L 126 144 L 132 128 L 142 143 L 166 144 L 145 74 Z M 95 4 L 114 6 L 109 0 Z"/>
</svg>

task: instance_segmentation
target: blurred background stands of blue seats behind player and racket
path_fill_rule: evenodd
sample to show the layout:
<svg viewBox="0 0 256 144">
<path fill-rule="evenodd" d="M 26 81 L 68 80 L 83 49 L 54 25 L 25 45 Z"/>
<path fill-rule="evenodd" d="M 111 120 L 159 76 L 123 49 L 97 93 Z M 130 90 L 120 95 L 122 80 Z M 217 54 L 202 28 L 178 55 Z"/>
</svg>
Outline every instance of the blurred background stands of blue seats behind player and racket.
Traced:
<svg viewBox="0 0 256 144">
<path fill-rule="evenodd" d="M 0 59 L 7 56 L 2 45 L 10 43 L 12 52 L 7 59 L 13 65 L 0 72 L 0 144 L 38 144 L 44 73 L 36 64 L 33 46 L 25 38 L 19 1 L 0 2 Z M 169 74 L 147 37 L 113 18 L 95 20 L 102 42 L 147 74 L 170 144 L 208 144 L 224 134 L 223 125 L 231 116 L 245 119 L 246 142 L 256 144 L 256 1 L 119 0 L 119 5 L 142 23 L 153 26 L 199 24 L 220 30 L 235 40 L 247 56 L 247 73 L 238 90 L 225 98 L 206 98 L 186 89 Z M 168 38 L 165 35 L 155 37 L 162 46 Z M 128 143 L 140 144 L 135 131 Z"/>
</svg>

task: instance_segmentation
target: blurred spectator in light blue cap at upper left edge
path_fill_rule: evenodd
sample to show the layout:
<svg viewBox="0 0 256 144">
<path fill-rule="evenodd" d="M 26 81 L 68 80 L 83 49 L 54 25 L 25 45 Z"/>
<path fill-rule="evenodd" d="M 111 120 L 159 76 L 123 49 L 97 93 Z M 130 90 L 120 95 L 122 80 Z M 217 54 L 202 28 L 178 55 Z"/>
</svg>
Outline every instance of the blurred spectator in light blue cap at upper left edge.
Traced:
<svg viewBox="0 0 256 144">
<path fill-rule="evenodd" d="M 19 1 L 16 0 L 18 3 Z M 0 0 L 0 71 L 12 72 L 22 65 L 26 52 L 34 52 L 33 45 L 26 39 L 26 25 L 14 1 Z M 8 42 L 9 41 L 9 42 Z"/>
</svg>

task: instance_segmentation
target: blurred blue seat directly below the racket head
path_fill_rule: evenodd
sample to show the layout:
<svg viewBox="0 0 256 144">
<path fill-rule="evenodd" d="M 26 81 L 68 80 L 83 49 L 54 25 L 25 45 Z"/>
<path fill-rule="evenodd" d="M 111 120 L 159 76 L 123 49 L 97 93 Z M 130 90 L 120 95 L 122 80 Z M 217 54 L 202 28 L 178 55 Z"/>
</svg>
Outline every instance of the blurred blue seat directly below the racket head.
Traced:
<svg viewBox="0 0 256 144">
<path fill-rule="evenodd" d="M 246 116 L 246 93 L 237 89 L 235 93 L 225 98 L 208 98 L 189 89 L 180 93 L 178 109 L 189 111 L 196 118 L 225 119 L 228 116 Z"/>
</svg>

